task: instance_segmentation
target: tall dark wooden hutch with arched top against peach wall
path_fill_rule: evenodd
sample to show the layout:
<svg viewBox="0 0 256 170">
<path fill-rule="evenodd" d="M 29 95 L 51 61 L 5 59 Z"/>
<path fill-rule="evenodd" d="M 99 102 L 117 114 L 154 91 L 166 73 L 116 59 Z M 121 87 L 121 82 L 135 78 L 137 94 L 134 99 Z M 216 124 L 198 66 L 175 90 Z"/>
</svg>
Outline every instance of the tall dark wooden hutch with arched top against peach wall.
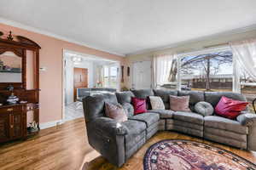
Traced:
<svg viewBox="0 0 256 170">
<path fill-rule="evenodd" d="M 0 31 L 0 143 L 26 139 L 40 129 L 39 49 L 26 37 Z M 7 101 L 11 94 L 19 98 L 16 103 Z M 30 124 L 36 130 L 29 130 Z"/>
</svg>

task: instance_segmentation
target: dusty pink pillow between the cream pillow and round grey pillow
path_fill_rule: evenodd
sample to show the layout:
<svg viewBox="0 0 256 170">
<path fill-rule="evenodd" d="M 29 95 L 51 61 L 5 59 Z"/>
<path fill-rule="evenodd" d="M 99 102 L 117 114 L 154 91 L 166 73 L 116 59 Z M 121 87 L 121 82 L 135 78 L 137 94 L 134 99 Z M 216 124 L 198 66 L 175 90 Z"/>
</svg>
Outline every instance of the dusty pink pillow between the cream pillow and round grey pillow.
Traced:
<svg viewBox="0 0 256 170">
<path fill-rule="evenodd" d="M 172 111 L 189 111 L 189 95 L 173 96 L 170 95 L 170 109 Z"/>
</svg>

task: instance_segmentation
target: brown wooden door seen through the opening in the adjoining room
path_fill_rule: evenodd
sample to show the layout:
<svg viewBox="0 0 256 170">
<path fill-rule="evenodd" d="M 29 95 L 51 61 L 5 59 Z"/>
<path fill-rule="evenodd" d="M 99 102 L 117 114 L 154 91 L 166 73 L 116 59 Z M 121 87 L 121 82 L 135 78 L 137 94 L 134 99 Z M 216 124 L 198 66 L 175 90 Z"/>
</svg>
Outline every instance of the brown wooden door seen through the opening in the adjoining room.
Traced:
<svg viewBox="0 0 256 170">
<path fill-rule="evenodd" d="M 88 88 L 88 69 L 73 68 L 73 101 L 78 99 L 78 88 Z"/>
</svg>

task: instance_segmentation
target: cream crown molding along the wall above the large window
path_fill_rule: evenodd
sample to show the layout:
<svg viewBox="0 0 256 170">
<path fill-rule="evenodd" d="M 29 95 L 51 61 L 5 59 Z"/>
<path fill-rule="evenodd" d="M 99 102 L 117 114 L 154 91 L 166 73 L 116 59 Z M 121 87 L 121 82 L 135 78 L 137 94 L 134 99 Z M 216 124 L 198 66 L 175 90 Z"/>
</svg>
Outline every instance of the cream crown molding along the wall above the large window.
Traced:
<svg viewBox="0 0 256 170">
<path fill-rule="evenodd" d="M 230 31 L 219 32 L 219 33 L 216 33 L 216 34 L 212 34 L 210 36 L 194 38 L 194 39 L 190 39 L 188 41 L 175 42 L 175 43 L 169 44 L 167 46 L 160 46 L 158 48 L 143 49 L 143 50 L 139 50 L 137 52 L 131 53 L 131 54 L 126 54 L 126 56 L 151 53 L 151 52 L 154 52 L 154 51 L 160 51 L 160 50 L 164 50 L 164 49 L 167 49 L 167 48 L 176 48 L 176 47 L 184 45 L 186 43 L 201 42 L 201 41 L 205 41 L 207 39 L 211 39 L 211 38 L 215 38 L 215 37 L 230 36 L 230 35 L 244 33 L 244 32 L 253 31 L 253 30 L 256 30 L 256 24 L 253 24 L 251 26 L 245 26 L 245 27 L 233 29 L 233 30 L 230 30 Z"/>
</svg>

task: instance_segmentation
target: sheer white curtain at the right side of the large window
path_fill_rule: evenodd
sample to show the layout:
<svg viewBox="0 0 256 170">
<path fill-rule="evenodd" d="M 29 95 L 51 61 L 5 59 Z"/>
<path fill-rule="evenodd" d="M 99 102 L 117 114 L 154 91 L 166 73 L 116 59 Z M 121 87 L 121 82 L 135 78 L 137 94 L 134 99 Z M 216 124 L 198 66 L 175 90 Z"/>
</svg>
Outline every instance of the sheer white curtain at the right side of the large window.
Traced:
<svg viewBox="0 0 256 170">
<path fill-rule="evenodd" d="M 230 42 L 233 53 L 234 85 L 233 91 L 240 93 L 241 67 L 250 77 L 256 79 L 256 39 L 241 42 Z"/>
</svg>

